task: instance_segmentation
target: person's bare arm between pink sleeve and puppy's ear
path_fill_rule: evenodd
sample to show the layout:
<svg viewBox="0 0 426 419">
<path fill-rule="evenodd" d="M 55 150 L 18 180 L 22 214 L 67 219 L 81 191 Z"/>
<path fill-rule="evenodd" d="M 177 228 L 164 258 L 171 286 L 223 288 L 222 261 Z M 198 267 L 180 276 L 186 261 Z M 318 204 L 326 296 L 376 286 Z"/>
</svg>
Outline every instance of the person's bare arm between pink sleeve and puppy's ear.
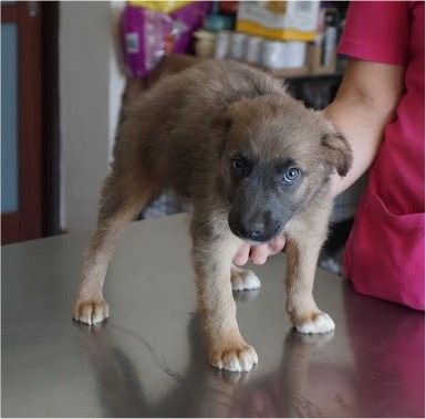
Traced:
<svg viewBox="0 0 426 419">
<path fill-rule="evenodd" d="M 332 175 L 334 197 L 354 184 L 373 163 L 384 127 L 394 117 L 399 101 L 402 74 L 401 67 L 357 60 L 350 62 L 336 98 L 325 108 L 326 118 L 345 136 L 353 151 L 350 172 L 344 178 Z M 376 94 L 374 83 L 384 81 L 392 88 Z"/>
</svg>

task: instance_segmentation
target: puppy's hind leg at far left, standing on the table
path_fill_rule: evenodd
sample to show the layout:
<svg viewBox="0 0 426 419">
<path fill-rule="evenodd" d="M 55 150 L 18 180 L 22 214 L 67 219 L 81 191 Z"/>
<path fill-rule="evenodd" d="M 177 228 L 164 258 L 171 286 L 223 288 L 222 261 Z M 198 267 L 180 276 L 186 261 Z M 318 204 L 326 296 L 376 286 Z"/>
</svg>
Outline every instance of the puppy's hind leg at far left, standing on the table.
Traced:
<svg viewBox="0 0 426 419">
<path fill-rule="evenodd" d="M 94 324 L 108 316 L 103 285 L 110 259 L 126 224 L 153 197 L 153 187 L 143 179 L 136 186 L 116 171 L 106 178 L 101 193 L 97 228 L 86 250 L 81 282 L 73 306 L 75 321 Z"/>
</svg>

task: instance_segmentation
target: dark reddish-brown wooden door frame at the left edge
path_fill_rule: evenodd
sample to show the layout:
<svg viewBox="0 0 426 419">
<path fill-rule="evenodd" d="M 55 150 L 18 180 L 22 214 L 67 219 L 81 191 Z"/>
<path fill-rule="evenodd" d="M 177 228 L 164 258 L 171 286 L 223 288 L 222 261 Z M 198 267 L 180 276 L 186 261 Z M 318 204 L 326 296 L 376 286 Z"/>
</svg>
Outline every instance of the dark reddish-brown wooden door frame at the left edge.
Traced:
<svg viewBox="0 0 426 419">
<path fill-rule="evenodd" d="M 18 211 L 1 214 L 1 243 L 59 232 L 58 2 L 1 4 L 18 24 Z M 43 24 L 42 24 L 43 23 Z M 25 71 L 31 69 L 31 71 Z"/>
</svg>

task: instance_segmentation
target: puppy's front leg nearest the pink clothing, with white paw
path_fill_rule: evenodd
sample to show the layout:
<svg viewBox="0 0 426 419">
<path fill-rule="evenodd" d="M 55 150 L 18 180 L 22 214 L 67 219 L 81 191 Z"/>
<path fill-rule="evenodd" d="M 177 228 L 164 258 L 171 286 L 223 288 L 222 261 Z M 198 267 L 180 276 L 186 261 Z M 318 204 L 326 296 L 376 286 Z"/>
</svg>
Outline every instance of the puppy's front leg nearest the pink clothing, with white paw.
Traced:
<svg viewBox="0 0 426 419">
<path fill-rule="evenodd" d="M 325 224 L 325 222 L 324 222 Z M 313 281 L 325 231 L 303 229 L 288 237 L 287 311 L 298 332 L 325 333 L 334 329 L 334 322 L 313 300 Z"/>
</svg>

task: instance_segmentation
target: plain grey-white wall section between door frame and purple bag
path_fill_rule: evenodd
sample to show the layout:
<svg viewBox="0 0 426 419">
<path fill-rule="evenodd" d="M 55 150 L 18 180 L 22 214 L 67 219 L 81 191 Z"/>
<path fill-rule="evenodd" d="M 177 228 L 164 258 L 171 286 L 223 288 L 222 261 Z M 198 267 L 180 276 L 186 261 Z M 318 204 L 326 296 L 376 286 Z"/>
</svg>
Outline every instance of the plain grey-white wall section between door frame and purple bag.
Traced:
<svg viewBox="0 0 426 419">
<path fill-rule="evenodd" d="M 61 228 L 93 229 L 108 171 L 124 76 L 116 59 L 123 2 L 60 2 Z"/>
</svg>

